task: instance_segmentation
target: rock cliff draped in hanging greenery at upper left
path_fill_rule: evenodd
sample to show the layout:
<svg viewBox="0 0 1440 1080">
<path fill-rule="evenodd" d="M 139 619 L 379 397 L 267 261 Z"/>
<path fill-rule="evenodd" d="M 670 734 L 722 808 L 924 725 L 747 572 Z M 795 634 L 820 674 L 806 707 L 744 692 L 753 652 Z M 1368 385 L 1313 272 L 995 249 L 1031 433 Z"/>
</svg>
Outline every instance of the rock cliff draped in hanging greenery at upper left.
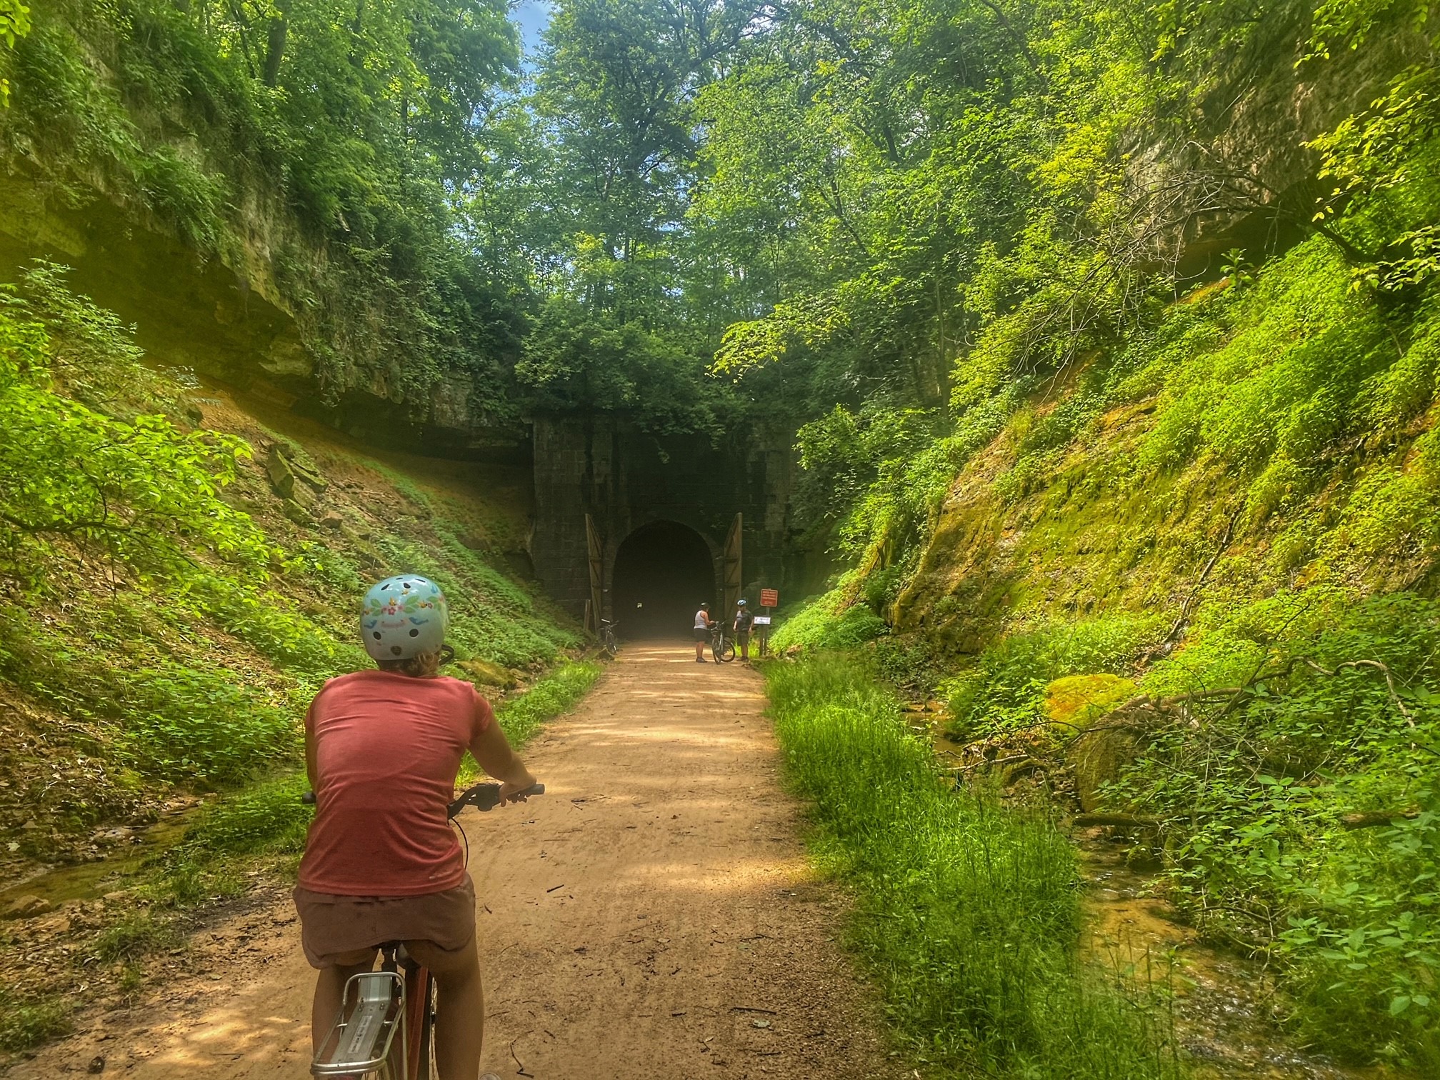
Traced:
<svg viewBox="0 0 1440 1080">
<path fill-rule="evenodd" d="M 495 412 L 517 315 L 456 268 L 444 210 L 351 232 L 209 53 L 167 52 L 167 23 L 102 9 L 37 6 L 3 53 L 0 281 L 49 259 L 134 323 L 154 363 L 390 446 L 520 452 L 523 429 Z"/>
</svg>

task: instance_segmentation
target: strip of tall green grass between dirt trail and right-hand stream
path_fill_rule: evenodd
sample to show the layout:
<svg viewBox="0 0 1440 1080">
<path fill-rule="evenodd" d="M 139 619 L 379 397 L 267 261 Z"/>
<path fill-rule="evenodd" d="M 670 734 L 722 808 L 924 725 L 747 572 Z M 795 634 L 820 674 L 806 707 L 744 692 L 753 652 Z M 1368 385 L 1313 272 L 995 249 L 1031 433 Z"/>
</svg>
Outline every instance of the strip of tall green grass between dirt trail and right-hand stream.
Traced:
<svg viewBox="0 0 1440 1080">
<path fill-rule="evenodd" d="M 789 776 L 854 890 L 850 942 L 917 1057 L 971 1076 L 1174 1077 L 1155 1009 L 1076 958 L 1076 854 L 1038 814 L 952 792 L 855 658 L 772 664 Z"/>
</svg>

